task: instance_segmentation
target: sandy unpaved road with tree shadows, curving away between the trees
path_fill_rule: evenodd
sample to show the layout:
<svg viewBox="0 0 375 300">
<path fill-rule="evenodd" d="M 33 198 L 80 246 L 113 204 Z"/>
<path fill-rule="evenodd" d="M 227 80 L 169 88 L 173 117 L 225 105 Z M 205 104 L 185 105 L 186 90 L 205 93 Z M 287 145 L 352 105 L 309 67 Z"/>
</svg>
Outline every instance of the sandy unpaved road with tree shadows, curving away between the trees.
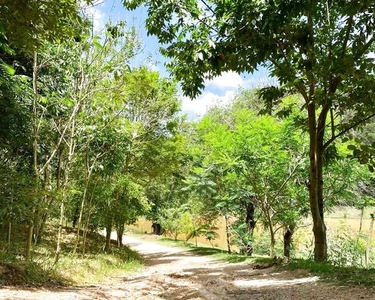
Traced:
<svg viewBox="0 0 375 300">
<path fill-rule="evenodd" d="M 112 284 L 50 290 L 6 287 L 0 288 L 0 299 L 375 300 L 374 288 L 327 284 L 306 271 L 226 263 L 153 239 L 124 238 L 125 244 L 143 255 L 145 267 L 136 274 L 114 278 Z"/>
</svg>

